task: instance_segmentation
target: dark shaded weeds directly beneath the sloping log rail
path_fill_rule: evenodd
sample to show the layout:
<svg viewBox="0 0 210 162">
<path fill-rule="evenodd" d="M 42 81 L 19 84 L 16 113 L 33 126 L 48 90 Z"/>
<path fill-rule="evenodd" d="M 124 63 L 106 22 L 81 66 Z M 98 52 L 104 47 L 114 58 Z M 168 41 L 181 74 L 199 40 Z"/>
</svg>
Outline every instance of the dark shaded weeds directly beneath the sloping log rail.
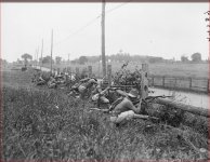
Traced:
<svg viewBox="0 0 210 162">
<path fill-rule="evenodd" d="M 179 127 L 181 124 L 186 125 L 208 138 L 208 130 L 210 130 L 209 118 L 204 116 L 197 116 L 157 103 L 142 105 L 141 113 L 159 118 L 162 123 L 167 123 L 173 127 Z"/>
</svg>

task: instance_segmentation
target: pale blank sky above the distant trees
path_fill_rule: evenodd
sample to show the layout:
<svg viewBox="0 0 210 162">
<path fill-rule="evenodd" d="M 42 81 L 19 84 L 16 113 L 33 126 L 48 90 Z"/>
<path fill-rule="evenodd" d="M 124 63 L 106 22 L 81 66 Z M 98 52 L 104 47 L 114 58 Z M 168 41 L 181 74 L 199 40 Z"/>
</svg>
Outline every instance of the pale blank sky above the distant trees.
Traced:
<svg viewBox="0 0 210 162">
<path fill-rule="evenodd" d="M 106 3 L 106 55 L 209 56 L 208 3 Z M 101 55 L 102 3 L 1 3 L 1 57 Z"/>
</svg>

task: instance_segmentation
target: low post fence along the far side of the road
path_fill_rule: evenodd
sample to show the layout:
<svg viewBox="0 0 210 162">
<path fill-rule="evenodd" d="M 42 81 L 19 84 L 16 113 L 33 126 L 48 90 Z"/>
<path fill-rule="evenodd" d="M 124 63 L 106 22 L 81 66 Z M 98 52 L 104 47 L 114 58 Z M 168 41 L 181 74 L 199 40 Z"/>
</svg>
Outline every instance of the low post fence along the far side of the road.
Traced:
<svg viewBox="0 0 210 162">
<path fill-rule="evenodd" d="M 209 93 L 208 78 L 188 78 L 173 76 L 149 76 L 149 85 L 172 90 Z"/>
</svg>

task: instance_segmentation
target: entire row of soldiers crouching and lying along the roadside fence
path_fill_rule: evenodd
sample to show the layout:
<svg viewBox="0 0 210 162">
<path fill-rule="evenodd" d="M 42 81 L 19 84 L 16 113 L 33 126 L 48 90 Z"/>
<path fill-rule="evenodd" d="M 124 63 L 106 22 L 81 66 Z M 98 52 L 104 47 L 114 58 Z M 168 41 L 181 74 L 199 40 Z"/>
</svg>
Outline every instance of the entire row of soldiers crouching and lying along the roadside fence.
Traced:
<svg viewBox="0 0 210 162">
<path fill-rule="evenodd" d="M 34 82 L 36 82 L 37 85 L 47 84 L 50 89 L 55 89 L 60 84 L 67 84 L 69 80 L 73 83 L 75 82 L 68 94 L 69 96 L 81 99 L 91 98 L 91 100 L 97 105 L 97 108 L 91 109 L 110 113 L 110 121 L 116 124 L 132 118 L 156 119 L 154 117 L 141 114 L 143 112 L 142 96 L 137 89 L 131 89 L 129 93 L 111 86 L 107 86 L 103 90 L 102 84 L 95 78 L 88 78 L 86 76 L 86 78 L 77 81 L 75 76 L 68 76 L 64 72 L 51 75 L 48 80 L 43 79 L 41 72 L 38 72 L 34 78 Z M 106 108 L 99 108 L 100 105 L 105 105 Z"/>
</svg>

